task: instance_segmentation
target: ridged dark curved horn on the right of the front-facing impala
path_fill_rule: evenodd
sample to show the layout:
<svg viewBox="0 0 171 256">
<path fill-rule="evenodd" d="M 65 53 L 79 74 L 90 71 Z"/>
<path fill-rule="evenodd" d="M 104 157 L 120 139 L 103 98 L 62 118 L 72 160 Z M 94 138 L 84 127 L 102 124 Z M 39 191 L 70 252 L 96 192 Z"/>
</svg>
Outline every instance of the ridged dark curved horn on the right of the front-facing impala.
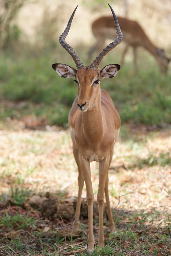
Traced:
<svg viewBox="0 0 171 256">
<path fill-rule="evenodd" d="M 116 33 L 117 33 L 117 39 L 115 41 L 113 41 L 112 43 L 110 43 L 109 45 L 107 45 L 102 50 L 102 52 L 100 52 L 99 55 L 97 55 L 96 59 L 93 60 L 92 64 L 90 65 L 90 68 L 95 69 L 95 70 L 98 68 L 98 66 L 100 64 L 100 61 L 103 59 L 103 57 L 108 52 L 110 52 L 113 48 L 115 48 L 118 44 L 120 44 L 120 42 L 122 41 L 122 38 L 123 38 L 122 32 L 121 32 L 120 27 L 119 27 L 119 23 L 117 21 L 117 17 L 115 15 L 112 7 L 110 5 L 109 5 L 109 7 L 110 7 L 110 9 L 112 11 L 113 18 L 114 18 L 114 21 L 115 21 L 115 28 L 116 28 Z"/>
</svg>

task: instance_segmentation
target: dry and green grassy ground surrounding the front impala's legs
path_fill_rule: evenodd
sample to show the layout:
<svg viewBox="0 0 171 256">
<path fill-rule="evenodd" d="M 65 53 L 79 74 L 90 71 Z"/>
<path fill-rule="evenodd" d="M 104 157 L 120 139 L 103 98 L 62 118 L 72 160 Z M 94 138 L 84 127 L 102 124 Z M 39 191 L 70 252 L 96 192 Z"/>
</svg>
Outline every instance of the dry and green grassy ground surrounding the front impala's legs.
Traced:
<svg viewBox="0 0 171 256">
<path fill-rule="evenodd" d="M 73 215 L 67 202 L 78 192 L 69 131 L 18 132 L 14 128 L 16 126 L 0 133 L 0 155 L 3 152 L 6 158 L 5 162 L 2 158 L 0 162 L 2 255 L 89 255 L 85 249 L 88 233 L 85 217 L 81 220 L 82 235 L 79 237 L 58 234 L 61 227 L 72 230 Z M 122 128 L 109 170 L 110 200 L 117 234 L 109 233 L 104 214 L 105 247 L 99 248 L 98 215 L 95 215 L 96 250 L 92 256 L 169 255 L 170 135 L 168 129 L 142 133 L 139 129 L 131 132 L 130 126 Z M 97 163 L 93 162 L 95 194 L 97 173 Z M 47 191 L 65 202 L 67 213 L 42 218 L 40 210 L 26 208 L 31 194 L 44 196 Z M 82 196 L 86 197 L 85 187 Z M 53 235 L 50 236 L 50 232 Z"/>
</svg>

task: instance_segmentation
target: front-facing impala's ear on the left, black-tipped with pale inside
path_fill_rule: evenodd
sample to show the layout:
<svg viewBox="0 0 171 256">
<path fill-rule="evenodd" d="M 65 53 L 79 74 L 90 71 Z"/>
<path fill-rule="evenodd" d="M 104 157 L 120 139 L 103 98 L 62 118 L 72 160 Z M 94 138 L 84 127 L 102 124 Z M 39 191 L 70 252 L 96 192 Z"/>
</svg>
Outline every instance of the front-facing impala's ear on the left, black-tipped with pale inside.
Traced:
<svg viewBox="0 0 171 256">
<path fill-rule="evenodd" d="M 52 67 L 56 71 L 56 73 L 58 73 L 58 75 L 65 78 L 75 77 L 77 73 L 76 69 L 61 63 L 55 63 L 52 65 Z"/>
</svg>

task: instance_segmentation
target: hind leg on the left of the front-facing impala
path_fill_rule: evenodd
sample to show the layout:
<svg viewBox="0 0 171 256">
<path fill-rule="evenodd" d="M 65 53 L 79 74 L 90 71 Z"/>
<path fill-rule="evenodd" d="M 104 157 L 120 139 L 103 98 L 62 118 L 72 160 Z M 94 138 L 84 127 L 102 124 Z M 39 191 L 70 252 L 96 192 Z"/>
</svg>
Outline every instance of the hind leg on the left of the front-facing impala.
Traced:
<svg viewBox="0 0 171 256">
<path fill-rule="evenodd" d="M 73 145 L 73 153 L 75 157 L 75 161 L 78 166 L 78 183 L 79 183 L 79 193 L 78 193 L 78 198 L 77 198 L 77 204 L 76 204 L 76 209 L 75 209 L 75 216 L 74 216 L 74 222 L 73 226 L 74 229 L 79 228 L 80 225 L 80 208 L 81 208 L 81 196 L 82 196 L 82 189 L 84 186 L 84 178 L 83 178 L 83 173 L 82 173 L 82 168 L 81 168 L 81 161 L 80 161 L 80 156 L 78 150 L 74 147 Z"/>
</svg>

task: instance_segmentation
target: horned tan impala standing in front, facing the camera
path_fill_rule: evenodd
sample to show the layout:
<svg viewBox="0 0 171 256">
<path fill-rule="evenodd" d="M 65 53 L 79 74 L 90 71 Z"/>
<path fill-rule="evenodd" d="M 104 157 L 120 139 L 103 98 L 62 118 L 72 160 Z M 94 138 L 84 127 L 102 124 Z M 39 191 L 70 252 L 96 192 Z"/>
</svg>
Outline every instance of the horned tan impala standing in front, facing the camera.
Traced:
<svg viewBox="0 0 171 256">
<path fill-rule="evenodd" d="M 110 6 L 110 5 L 109 5 Z M 77 7 L 76 7 L 77 8 Z M 99 238 L 98 244 L 104 246 L 103 237 L 103 205 L 104 194 L 106 197 L 108 224 L 110 231 L 115 231 L 108 194 L 108 169 L 113 155 L 113 147 L 120 131 L 120 116 L 113 105 L 113 101 L 106 91 L 100 90 L 100 80 L 112 78 L 120 69 L 117 64 L 110 64 L 99 69 L 99 63 L 103 57 L 122 40 L 122 33 L 113 9 L 117 39 L 106 46 L 96 57 L 90 66 L 84 66 L 74 49 L 65 42 L 65 38 L 71 27 L 76 8 L 72 13 L 68 25 L 59 37 L 60 44 L 72 56 L 77 69 L 65 64 L 53 64 L 54 70 L 62 77 L 74 77 L 78 86 L 78 97 L 72 104 L 69 112 L 69 126 L 73 141 L 73 153 L 78 165 L 79 193 L 75 211 L 74 227 L 79 228 L 81 194 L 85 181 L 87 190 L 89 235 L 88 251 L 94 251 L 93 235 L 93 189 L 91 182 L 90 162 L 99 162 L 99 190 L 97 201 L 99 206 Z"/>
</svg>

